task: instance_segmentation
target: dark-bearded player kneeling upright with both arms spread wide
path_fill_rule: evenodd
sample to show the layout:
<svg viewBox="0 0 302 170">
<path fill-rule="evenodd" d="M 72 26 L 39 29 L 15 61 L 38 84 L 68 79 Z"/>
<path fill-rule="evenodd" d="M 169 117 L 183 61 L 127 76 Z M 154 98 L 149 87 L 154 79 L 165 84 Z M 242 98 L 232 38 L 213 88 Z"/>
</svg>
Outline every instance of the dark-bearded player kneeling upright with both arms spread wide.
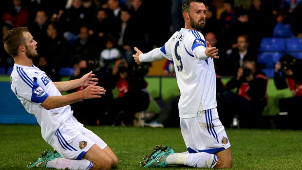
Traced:
<svg viewBox="0 0 302 170">
<path fill-rule="evenodd" d="M 211 47 L 201 34 L 206 23 L 206 6 L 202 0 L 186 0 L 182 13 L 185 28 L 175 32 L 161 48 L 145 54 L 134 48 L 133 57 L 138 64 L 164 58 L 173 60 L 180 89 L 180 127 L 187 152 L 174 153 L 170 146 L 156 146 L 141 166 L 231 168 L 230 143 L 216 109 L 213 60 L 219 58 L 218 49 Z"/>
</svg>

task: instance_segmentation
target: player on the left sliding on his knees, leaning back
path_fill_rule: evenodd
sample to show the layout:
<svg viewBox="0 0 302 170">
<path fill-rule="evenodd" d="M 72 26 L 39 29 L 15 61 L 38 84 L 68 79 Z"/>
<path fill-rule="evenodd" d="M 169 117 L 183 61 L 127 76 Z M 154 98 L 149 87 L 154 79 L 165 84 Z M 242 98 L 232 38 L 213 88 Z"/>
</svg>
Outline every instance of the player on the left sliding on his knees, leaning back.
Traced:
<svg viewBox="0 0 302 170">
<path fill-rule="evenodd" d="M 79 79 L 52 82 L 44 71 L 33 65 L 38 57 L 37 42 L 26 27 L 8 31 L 3 37 L 5 50 L 14 58 L 11 89 L 30 114 L 35 115 L 43 139 L 56 151 L 42 154 L 28 168 L 69 170 L 109 170 L 118 159 L 109 146 L 73 116 L 69 104 L 83 99 L 101 98 L 106 90 L 97 86 L 91 72 Z M 82 91 L 61 95 L 76 87 Z"/>
</svg>

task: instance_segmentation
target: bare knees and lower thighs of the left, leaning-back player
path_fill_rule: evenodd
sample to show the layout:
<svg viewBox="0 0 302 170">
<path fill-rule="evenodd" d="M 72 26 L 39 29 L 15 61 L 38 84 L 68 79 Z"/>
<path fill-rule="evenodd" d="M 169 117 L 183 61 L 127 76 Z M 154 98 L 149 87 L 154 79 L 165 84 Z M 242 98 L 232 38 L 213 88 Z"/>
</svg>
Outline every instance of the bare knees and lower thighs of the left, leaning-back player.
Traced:
<svg viewBox="0 0 302 170">
<path fill-rule="evenodd" d="M 109 146 L 102 150 L 94 144 L 83 158 L 94 163 L 90 170 L 110 170 L 118 165 L 118 159 Z"/>
</svg>

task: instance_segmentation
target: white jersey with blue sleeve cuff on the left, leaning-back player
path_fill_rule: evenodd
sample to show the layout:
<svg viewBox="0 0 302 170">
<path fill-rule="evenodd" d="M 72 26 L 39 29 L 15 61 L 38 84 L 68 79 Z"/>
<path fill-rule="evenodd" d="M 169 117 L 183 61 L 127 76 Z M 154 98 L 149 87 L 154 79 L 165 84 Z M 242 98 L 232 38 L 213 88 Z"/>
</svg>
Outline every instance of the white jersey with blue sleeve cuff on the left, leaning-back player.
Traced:
<svg viewBox="0 0 302 170">
<path fill-rule="evenodd" d="M 70 105 L 50 110 L 40 105 L 48 96 L 61 96 L 61 93 L 45 72 L 35 66 L 15 64 L 11 74 L 11 89 L 26 111 L 35 115 L 47 143 L 51 142 L 61 122 L 73 114 Z"/>
</svg>

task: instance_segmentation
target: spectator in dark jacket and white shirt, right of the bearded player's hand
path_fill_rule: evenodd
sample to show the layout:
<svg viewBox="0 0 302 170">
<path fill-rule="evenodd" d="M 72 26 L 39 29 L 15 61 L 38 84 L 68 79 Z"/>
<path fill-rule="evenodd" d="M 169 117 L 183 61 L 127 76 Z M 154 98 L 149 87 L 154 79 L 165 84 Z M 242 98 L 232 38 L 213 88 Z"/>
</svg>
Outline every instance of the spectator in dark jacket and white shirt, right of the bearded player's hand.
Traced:
<svg viewBox="0 0 302 170">
<path fill-rule="evenodd" d="M 249 37 L 247 34 L 242 34 L 237 37 L 236 47 L 229 54 L 228 75 L 236 75 L 238 68 L 242 68 L 247 59 L 257 61 L 257 51 L 249 49 Z"/>
</svg>

